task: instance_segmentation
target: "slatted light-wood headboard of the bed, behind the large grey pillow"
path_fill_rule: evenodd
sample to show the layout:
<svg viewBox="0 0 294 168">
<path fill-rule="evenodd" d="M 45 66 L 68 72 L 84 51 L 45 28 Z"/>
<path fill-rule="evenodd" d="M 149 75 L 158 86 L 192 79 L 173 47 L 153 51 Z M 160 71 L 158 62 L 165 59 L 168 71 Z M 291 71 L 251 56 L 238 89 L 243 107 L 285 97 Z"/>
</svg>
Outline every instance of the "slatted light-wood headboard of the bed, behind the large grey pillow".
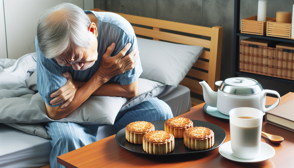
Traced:
<svg viewBox="0 0 294 168">
<path fill-rule="evenodd" d="M 91 9 L 91 11 L 107 12 L 97 8 Z M 216 86 L 214 83 L 220 80 L 220 62 L 223 41 L 223 27 L 214 26 L 211 28 L 128 14 L 116 14 L 123 16 L 131 24 L 153 27 L 153 29 L 148 29 L 133 26 L 136 35 L 151 37 L 153 38 L 153 40 L 164 40 L 179 44 L 203 46 L 206 49 L 210 49 L 209 51 L 203 50 L 200 56 L 201 60 L 198 59 L 196 63 L 193 65 L 195 68 L 190 69 L 190 71 L 187 74 L 191 77 L 185 77 L 180 84 L 188 87 L 191 90 L 191 92 L 203 95 L 202 87 L 198 81 L 200 79 L 200 81 L 207 81 L 208 85 L 213 90 L 217 91 L 218 86 Z M 170 32 L 164 32 L 161 31 L 161 29 L 196 34 L 200 36 L 207 36 L 211 37 L 211 40 L 183 36 Z M 198 80 L 195 80 L 195 78 L 197 78 Z"/>
</svg>

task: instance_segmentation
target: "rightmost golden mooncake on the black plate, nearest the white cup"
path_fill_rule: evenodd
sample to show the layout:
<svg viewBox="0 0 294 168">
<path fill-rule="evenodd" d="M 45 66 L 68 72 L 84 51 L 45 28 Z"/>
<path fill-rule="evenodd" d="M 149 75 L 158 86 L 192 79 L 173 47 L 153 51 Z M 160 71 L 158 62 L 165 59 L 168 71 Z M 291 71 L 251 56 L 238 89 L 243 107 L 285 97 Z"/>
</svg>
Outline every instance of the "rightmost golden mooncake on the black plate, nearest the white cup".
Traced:
<svg viewBox="0 0 294 168">
<path fill-rule="evenodd" d="M 205 127 L 193 127 L 185 131 L 184 144 L 189 149 L 205 150 L 213 147 L 214 133 Z"/>
</svg>

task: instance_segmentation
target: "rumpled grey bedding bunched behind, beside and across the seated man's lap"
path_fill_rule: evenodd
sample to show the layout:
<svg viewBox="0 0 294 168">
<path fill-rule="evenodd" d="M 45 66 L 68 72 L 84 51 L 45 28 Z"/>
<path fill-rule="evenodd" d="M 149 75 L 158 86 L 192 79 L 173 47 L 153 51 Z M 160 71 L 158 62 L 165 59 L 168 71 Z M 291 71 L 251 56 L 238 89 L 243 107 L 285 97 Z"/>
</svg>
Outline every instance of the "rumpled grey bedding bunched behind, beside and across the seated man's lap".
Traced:
<svg viewBox="0 0 294 168">
<path fill-rule="evenodd" d="M 91 96 L 69 116 L 52 120 L 36 87 L 36 53 L 21 58 L 0 59 L 0 123 L 26 133 L 50 138 L 43 122 L 113 124 L 119 111 L 166 92 L 166 84 L 138 79 L 138 94 L 132 99 Z M 33 125 L 32 125 L 33 124 Z"/>
</svg>

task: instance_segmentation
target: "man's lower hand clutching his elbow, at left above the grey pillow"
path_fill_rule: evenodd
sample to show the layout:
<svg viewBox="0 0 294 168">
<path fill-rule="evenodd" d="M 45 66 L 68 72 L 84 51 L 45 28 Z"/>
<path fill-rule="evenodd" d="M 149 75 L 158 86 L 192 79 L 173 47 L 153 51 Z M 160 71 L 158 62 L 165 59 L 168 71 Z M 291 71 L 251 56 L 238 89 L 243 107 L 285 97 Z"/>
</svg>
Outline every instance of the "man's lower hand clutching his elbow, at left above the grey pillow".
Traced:
<svg viewBox="0 0 294 168">
<path fill-rule="evenodd" d="M 50 101 L 51 105 L 55 106 L 65 102 L 62 104 L 61 109 L 65 108 L 71 103 L 71 101 L 74 99 L 76 90 L 79 89 L 82 84 L 79 81 L 74 81 L 69 72 L 64 72 L 62 76 L 67 79 L 66 84 L 50 95 L 51 98 L 55 97 Z"/>
</svg>

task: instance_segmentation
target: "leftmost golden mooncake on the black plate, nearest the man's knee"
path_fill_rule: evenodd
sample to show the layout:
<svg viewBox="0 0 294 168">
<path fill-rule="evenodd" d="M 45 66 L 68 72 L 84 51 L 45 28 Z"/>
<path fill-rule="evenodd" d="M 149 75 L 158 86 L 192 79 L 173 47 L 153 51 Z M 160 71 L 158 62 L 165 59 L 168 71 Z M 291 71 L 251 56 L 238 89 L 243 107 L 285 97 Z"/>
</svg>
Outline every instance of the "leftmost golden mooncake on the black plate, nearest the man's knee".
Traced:
<svg viewBox="0 0 294 168">
<path fill-rule="evenodd" d="M 149 131 L 154 131 L 154 125 L 150 122 L 131 122 L 126 126 L 126 140 L 133 144 L 143 144 L 143 137 Z"/>
</svg>

